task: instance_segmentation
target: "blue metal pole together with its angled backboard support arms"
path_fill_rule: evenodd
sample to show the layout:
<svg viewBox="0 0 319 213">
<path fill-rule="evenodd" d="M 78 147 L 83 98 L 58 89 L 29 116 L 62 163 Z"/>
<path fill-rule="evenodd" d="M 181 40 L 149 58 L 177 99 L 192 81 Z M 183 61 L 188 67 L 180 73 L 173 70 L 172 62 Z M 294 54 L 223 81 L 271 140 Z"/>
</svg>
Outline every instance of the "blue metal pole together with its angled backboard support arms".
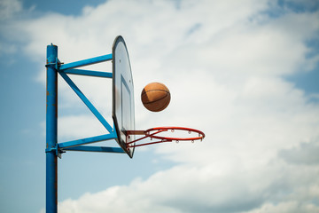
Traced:
<svg viewBox="0 0 319 213">
<path fill-rule="evenodd" d="M 86 98 L 82 91 L 68 77 L 69 75 L 86 75 L 94 77 L 113 78 L 112 73 L 75 69 L 100 62 L 112 60 L 113 55 L 107 54 L 91 59 L 75 61 L 61 65 L 58 60 L 58 46 L 47 46 L 47 101 L 46 101 L 46 212 L 58 212 L 58 156 L 65 151 L 99 152 L 99 153 L 119 153 L 125 154 L 121 147 L 105 146 L 83 146 L 100 141 L 116 139 L 117 133 L 114 128 L 106 122 L 105 118 L 97 111 L 97 108 Z M 74 90 L 83 103 L 97 117 L 105 129 L 109 132 L 105 135 L 91 138 L 82 138 L 63 143 L 58 143 L 58 74 Z"/>
</svg>

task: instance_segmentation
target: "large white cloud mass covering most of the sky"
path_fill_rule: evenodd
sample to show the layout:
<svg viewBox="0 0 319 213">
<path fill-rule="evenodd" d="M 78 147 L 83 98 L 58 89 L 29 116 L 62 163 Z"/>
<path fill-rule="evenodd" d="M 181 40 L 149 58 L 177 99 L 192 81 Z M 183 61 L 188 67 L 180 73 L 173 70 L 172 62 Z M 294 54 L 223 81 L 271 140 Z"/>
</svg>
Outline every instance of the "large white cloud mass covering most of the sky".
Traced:
<svg viewBox="0 0 319 213">
<path fill-rule="evenodd" d="M 283 76 L 317 63 L 317 57 L 306 58 L 304 42 L 319 29 L 318 12 L 286 10 L 272 18 L 267 8 L 267 1 L 108 1 L 84 8 L 81 16 L 51 13 L 14 25 L 36 61 L 43 61 L 49 43 L 58 44 L 59 59 L 67 63 L 110 53 L 113 38 L 124 36 L 137 128 L 179 125 L 206 133 L 202 143 L 152 146 L 157 158 L 179 162 L 175 167 L 61 201 L 60 212 L 317 211 L 319 165 L 296 162 L 318 147 L 319 107 Z M 108 66 L 94 68 L 110 71 Z M 74 79 L 99 108 L 109 102 L 109 84 L 104 93 L 102 81 Z M 154 81 L 166 83 L 172 94 L 159 114 L 139 100 L 139 91 Z M 78 108 L 66 85 L 59 94 L 63 109 Z M 107 107 L 102 111 L 110 114 Z M 96 124 L 76 126 L 93 123 L 83 114 L 59 121 L 66 138 L 97 130 Z"/>
</svg>

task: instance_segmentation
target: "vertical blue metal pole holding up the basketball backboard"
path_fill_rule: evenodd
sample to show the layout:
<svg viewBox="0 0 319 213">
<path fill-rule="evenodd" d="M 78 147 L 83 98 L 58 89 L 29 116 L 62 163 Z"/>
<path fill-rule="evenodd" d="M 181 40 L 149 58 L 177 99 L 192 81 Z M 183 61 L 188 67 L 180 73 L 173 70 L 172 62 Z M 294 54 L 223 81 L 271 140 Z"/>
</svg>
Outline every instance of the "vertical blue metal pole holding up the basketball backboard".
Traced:
<svg viewBox="0 0 319 213">
<path fill-rule="evenodd" d="M 46 213 L 58 212 L 58 46 L 47 46 Z"/>
</svg>

